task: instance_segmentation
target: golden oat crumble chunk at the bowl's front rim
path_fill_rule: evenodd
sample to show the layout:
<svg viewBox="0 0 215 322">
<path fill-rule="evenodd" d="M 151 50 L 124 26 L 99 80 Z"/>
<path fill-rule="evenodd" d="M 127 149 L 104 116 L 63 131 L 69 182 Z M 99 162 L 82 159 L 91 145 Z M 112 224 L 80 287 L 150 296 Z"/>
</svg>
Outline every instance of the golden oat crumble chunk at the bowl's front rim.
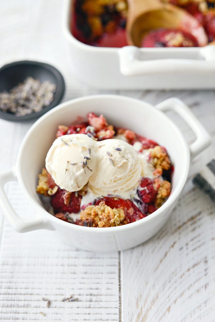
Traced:
<svg viewBox="0 0 215 322">
<path fill-rule="evenodd" d="M 122 208 L 108 207 L 104 201 L 97 206 L 88 206 L 80 214 L 83 225 L 87 227 L 114 227 L 119 226 L 125 214 Z"/>
</svg>

